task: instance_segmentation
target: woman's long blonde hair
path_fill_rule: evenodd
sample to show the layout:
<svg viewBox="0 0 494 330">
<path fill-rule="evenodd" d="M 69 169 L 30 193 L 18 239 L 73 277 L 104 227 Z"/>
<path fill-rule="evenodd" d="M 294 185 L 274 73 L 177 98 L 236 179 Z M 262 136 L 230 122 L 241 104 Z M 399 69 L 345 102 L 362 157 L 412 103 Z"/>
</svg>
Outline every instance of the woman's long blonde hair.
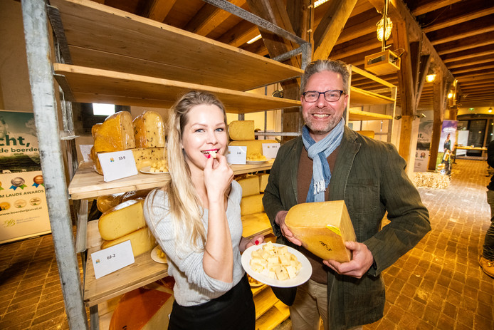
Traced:
<svg viewBox="0 0 494 330">
<path fill-rule="evenodd" d="M 176 246 L 184 251 L 187 250 L 186 247 L 201 251 L 206 244 L 206 230 L 202 222 L 203 207 L 191 180 L 190 168 L 182 149 L 182 136 L 189 120 L 189 111 L 202 104 L 216 105 L 223 110 L 225 125 L 228 128 L 223 103 L 216 96 L 203 91 L 185 93 L 173 105 L 168 118 L 168 167 L 172 180 L 165 185 L 165 191 L 168 194 L 170 216 L 174 222 Z"/>
</svg>

